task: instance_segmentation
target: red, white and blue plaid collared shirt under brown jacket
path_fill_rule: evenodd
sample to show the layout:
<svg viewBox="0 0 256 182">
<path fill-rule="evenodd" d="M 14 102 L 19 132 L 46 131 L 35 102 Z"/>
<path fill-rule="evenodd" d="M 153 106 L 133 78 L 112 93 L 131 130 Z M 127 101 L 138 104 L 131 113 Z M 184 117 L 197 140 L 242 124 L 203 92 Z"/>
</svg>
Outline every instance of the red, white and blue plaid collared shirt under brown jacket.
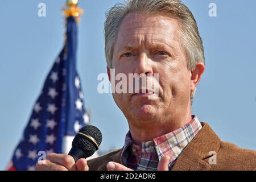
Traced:
<svg viewBox="0 0 256 182">
<path fill-rule="evenodd" d="M 126 134 L 125 146 L 121 154 L 121 163 L 134 170 L 154 171 L 158 167 L 158 162 L 164 155 L 170 156 L 169 169 L 187 146 L 189 142 L 202 128 L 196 115 L 192 120 L 179 129 L 156 137 L 150 142 L 143 142 L 142 146 L 134 144 L 130 131 Z"/>
</svg>

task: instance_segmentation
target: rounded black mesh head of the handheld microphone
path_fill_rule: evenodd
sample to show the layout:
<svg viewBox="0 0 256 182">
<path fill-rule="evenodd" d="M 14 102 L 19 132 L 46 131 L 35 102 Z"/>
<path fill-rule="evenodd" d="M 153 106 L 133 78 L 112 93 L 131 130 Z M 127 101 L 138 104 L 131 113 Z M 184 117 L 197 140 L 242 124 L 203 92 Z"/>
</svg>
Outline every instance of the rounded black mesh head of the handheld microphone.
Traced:
<svg viewBox="0 0 256 182">
<path fill-rule="evenodd" d="M 102 134 L 97 127 L 92 125 L 84 126 L 79 130 L 79 133 L 92 137 L 96 141 L 98 146 L 100 146 L 102 141 Z M 85 156 L 86 158 L 93 155 L 94 152 L 97 151 L 96 144 L 92 142 L 92 140 L 90 140 L 89 138 L 80 134 L 77 134 L 76 137 L 73 139 L 72 147 L 76 147 L 82 150 L 86 155 L 88 155 Z"/>
</svg>

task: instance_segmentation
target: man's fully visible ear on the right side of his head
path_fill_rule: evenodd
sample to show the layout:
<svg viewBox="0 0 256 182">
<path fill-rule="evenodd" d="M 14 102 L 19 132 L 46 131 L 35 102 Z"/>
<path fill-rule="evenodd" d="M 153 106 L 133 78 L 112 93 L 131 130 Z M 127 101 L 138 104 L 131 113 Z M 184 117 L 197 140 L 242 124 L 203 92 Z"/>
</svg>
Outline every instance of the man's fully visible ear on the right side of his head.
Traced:
<svg viewBox="0 0 256 182">
<path fill-rule="evenodd" d="M 194 92 L 196 90 L 196 86 L 197 84 L 199 84 L 204 69 L 204 63 L 197 63 L 196 68 L 193 71 L 191 71 L 191 92 Z"/>
</svg>

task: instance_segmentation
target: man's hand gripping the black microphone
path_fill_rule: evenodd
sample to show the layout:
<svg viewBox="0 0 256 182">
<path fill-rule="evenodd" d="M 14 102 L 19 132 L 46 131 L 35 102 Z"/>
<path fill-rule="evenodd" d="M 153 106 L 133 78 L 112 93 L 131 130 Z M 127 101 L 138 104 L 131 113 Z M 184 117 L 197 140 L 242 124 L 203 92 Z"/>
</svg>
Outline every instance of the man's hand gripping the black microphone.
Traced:
<svg viewBox="0 0 256 182">
<path fill-rule="evenodd" d="M 75 160 L 70 155 L 49 154 L 46 160 L 40 160 L 36 164 L 38 171 L 88 171 L 86 159 Z"/>
</svg>

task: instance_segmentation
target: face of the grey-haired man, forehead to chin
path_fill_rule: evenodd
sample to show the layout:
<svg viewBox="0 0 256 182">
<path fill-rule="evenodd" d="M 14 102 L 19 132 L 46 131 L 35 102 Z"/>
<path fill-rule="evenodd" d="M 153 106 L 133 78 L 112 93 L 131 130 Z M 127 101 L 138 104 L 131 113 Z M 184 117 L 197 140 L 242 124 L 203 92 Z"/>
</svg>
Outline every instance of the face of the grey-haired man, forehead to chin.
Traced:
<svg viewBox="0 0 256 182">
<path fill-rule="evenodd" d="M 190 109 L 191 72 L 181 47 L 177 19 L 130 13 L 123 19 L 114 44 L 115 74 L 159 73 L 159 96 L 114 93 L 118 107 L 135 125 L 166 122 Z"/>
</svg>

